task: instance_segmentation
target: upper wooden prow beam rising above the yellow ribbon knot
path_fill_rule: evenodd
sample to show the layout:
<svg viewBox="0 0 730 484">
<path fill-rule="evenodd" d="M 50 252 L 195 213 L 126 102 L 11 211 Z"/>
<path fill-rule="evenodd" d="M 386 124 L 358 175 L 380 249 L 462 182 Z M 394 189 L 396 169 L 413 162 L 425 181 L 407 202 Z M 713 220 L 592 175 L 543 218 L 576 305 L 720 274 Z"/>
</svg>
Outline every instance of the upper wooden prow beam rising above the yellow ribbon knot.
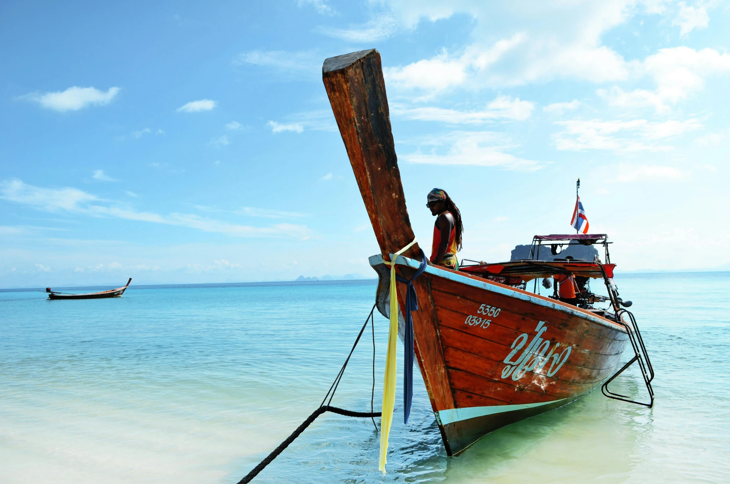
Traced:
<svg viewBox="0 0 730 484">
<path fill-rule="evenodd" d="M 380 251 L 389 254 L 414 238 L 391 132 L 383 67 L 375 49 L 330 57 L 322 77 L 353 165 Z M 405 253 L 420 259 L 418 246 Z"/>
</svg>

